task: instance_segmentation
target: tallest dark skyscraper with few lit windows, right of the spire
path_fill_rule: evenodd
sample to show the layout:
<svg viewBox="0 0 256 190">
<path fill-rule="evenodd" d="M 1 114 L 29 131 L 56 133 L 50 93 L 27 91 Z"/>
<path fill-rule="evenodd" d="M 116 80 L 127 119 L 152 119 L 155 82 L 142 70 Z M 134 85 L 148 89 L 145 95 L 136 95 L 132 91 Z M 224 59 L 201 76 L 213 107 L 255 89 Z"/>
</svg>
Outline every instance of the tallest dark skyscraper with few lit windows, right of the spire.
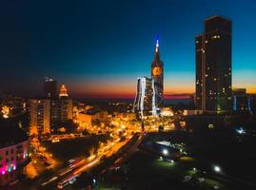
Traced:
<svg viewBox="0 0 256 190">
<path fill-rule="evenodd" d="M 197 109 L 211 113 L 232 109 L 231 27 L 226 18 L 212 16 L 195 39 Z"/>
</svg>

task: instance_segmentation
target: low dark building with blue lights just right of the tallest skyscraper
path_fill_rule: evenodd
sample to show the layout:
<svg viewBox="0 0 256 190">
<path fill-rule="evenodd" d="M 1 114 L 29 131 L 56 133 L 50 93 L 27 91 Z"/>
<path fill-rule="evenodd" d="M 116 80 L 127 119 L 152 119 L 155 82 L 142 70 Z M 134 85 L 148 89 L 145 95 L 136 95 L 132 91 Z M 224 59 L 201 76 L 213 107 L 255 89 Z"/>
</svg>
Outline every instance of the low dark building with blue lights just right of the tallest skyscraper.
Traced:
<svg viewBox="0 0 256 190">
<path fill-rule="evenodd" d="M 233 111 L 250 111 L 250 99 L 246 94 L 246 88 L 235 88 L 233 93 Z"/>
</svg>

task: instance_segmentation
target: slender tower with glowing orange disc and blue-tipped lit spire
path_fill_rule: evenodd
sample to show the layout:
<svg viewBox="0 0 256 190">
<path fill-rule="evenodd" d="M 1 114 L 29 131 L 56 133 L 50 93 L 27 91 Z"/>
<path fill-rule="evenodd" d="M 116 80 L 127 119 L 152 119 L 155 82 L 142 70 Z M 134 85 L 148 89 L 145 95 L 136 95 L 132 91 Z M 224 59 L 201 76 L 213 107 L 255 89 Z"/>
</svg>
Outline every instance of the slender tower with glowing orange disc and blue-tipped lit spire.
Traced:
<svg viewBox="0 0 256 190">
<path fill-rule="evenodd" d="M 159 41 L 156 41 L 154 61 L 151 63 L 151 78 L 154 80 L 155 103 L 157 107 L 164 102 L 164 62 L 160 59 Z"/>
</svg>

